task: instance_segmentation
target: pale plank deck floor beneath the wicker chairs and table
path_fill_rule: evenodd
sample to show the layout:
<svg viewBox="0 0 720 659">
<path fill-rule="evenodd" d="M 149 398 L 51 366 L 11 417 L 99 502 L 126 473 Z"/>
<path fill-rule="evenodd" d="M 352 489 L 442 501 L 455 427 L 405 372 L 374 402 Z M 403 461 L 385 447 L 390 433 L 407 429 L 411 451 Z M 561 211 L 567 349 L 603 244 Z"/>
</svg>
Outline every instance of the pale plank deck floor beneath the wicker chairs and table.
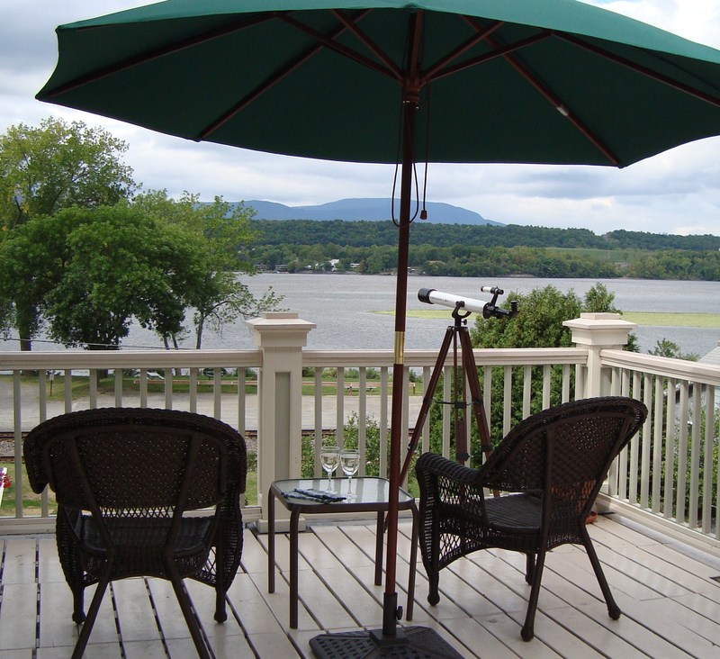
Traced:
<svg viewBox="0 0 720 659">
<path fill-rule="evenodd" d="M 624 615 L 608 618 L 590 562 L 561 547 L 548 558 L 536 638 L 519 637 L 529 588 L 524 558 L 480 552 L 446 569 L 442 599 L 427 603 L 419 564 L 415 617 L 464 657 L 720 657 L 720 557 L 603 518 L 591 534 Z M 410 525 L 401 522 L 398 591 L 405 603 Z M 380 627 L 383 587 L 374 586 L 374 523 L 313 523 L 300 538 L 300 628 L 288 629 L 288 541 L 278 537 L 282 576 L 267 593 L 266 537 L 246 530 L 242 568 L 229 591 L 229 620 L 212 621 L 211 589 L 188 582 L 204 633 L 218 658 L 309 657 L 312 636 Z M 67 657 L 76 639 L 71 597 L 54 537 L 0 538 L 0 659 Z M 91 593 L 88 593 L 91 594 Z M 112 597 L 110 596 L 112 594 Z M 88 597 L 89 600 L 89 597 Z M 130 579 L 112 585 L 95 623 L 88 657 L 195 656 L 169 584 Z"/>
</svg>

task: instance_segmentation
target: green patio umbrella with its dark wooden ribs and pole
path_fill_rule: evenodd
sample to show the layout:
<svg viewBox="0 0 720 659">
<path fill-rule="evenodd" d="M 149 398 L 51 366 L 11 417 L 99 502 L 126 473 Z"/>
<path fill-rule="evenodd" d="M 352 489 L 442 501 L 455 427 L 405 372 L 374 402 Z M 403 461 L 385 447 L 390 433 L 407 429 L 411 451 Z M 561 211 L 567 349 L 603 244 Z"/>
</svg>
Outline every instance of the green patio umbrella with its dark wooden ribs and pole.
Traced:
<svg viewBox="0 0 720 659">
<path fill-rule="evenodd" d="M 625 167 L 720 133 L 720 52 L 575 0 L 168 0 L 60 26 L 58 41 L 40 100 L 190 140 L 401 164 L 392 492 L 416 160 Z M 400 636 L 397 512 L 381 647 Z"/>
</svg>

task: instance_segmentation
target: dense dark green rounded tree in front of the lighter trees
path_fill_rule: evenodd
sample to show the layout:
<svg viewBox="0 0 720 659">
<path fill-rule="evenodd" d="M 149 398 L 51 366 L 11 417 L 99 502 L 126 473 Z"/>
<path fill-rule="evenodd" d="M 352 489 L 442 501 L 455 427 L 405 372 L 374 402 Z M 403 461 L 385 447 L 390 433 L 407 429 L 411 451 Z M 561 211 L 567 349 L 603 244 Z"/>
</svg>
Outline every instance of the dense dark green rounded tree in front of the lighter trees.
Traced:
<svg viewBox="0 0 720 659">
<path fill-rule="evenodd" d="M 53 339 L 116 348 L 133 319 L 153 330 L 182 320 L 181 292 L 202 274 L 192 239 L 124 205 L 58 214 L 66 216 L 57 237 L 66 259 L 41 302 Z"/>
</svg>

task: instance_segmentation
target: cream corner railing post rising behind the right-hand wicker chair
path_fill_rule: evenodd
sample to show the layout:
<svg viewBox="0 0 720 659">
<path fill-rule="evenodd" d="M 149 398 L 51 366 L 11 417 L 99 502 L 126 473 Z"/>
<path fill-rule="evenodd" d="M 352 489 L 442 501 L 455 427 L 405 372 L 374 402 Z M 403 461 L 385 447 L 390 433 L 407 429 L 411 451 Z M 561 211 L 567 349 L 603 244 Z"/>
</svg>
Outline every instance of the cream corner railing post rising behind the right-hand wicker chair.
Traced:
<svg viewBox="0 0 720 659">
<path fill-rule="evenodd" d="M 563 325 L 572 330 L 572 341 L 588 348 L 588 374 L 585 391 L 578 398 L 601 396 L 610 390 L 610 373 L 602 367 L 600 351 L 606 348 L 622 348 L 628 335 L 637 328 L 634 322 L 621 320 L 619 313 L 581 313 L 580 318 L 564 320 Z"/>
</svg>

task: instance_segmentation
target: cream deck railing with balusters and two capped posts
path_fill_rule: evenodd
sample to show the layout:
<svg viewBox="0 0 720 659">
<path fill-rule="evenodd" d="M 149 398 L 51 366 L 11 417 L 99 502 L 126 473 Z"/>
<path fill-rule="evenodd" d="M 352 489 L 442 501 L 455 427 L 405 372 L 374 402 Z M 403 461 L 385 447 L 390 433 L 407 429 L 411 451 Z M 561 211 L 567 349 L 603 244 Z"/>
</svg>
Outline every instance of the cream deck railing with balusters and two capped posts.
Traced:
<svg viewBox="0 0 720 659">
<path fill-rule="evenodd" d="M 623 351 L 619 349 L 622 335 L 626 337 L 633 326 L 607 315 L 566 324 L 572 327 L 578 348 L 474 351 L 493 427 L 501 428 L 501 434 L 507 432 L 518 407 L 522 417 L 531 412 L 531 405 L 536 409 L 533 396 L 539 397 L 542 408 L 608 393 L 643 400 L 650 410 L 648 420 L 620 456 L 599 504 L 673 530 L 689 542 L 720 547 L 716 523 L 720 368 Z M 279 320 L 268 314 L 255 321 L 255 350 L 0 353 L 0 373 L 5 374 L 0 375 L 0 431 L 12 432 L 16 471 L 14 498 L 5 494 L 0 533 L 50 527 L 47 496 L 40 517 L 28 518 L 23 512 L 23 495 L 28 492 L 22 474 L 23 434 L 42 420 L 90 407 L 201 411 L 247 434 L 253 451 L 257 433 L 254 455 L 261 494 L 258 501 L 247 502 L 246 519 L 265 517 L 262 492 L 269 483 L 301 474 L 303 434 L 311 435 L 306 454 L 310 450 L 314 473 L 320 475 L 323 432 L 334 432 L 342 444 L 352 427 L 365 454 L 372 428 L 377 435 L 379 473 L 386 474 L 392 351 L 305 350 L 304 339 L 312 327 L 293 314 Z M 432 351 L 405 353 L 403 437 L 409 437 L 414 426 L 436 359 Z M 231 370 L 230 381 L 221 378 L 221 368 Z M 447 375 L 451 368 L 449 355 Z M 99 391 L 94 375 L 108 369 L 114 373 L 110 391 Z M 204 375 L 207 369 L 213 369 L 210 378 Z M 329 378 L 326 369 L 335 369 L 337 375 Z M 130 371 L 133 386 L 128 392 L 123 390 L 123 372 L 127 378 Z M 49 373 L 57 375 L 51 378 Z M 164 379 L 153 379 L 153 374 Z M 559 385 L 554 385 L 556 380 Z M 444 378 L 444 400 L 450 399 L 450 382 L 451 377 Z M 500 400 L 494 400 L 498 396 Z M 438 421 L 439 450 L 446 456 L 451 454 L 450 414 L 450 406 L 443 406 Z M 467 422 L 471 424 L 470 419 Z M 427 423 L 419 450 L 429 447 Z M 251 465 L 255 468 L 255 461 Z M 9 499 L 14 505 L 8 504 Z"/>
</svg>

